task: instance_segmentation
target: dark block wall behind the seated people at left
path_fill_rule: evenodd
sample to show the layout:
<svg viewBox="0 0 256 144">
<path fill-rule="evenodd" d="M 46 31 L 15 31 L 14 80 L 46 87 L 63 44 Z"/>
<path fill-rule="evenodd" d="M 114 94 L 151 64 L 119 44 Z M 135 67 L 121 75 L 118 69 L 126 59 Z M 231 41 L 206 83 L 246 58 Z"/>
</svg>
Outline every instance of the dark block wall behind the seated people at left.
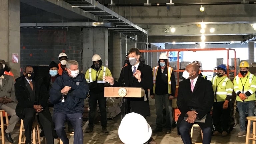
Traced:
<svg viewBox="0 0 256 144">
<path fill-rule="evenodd" d="M 49 65 L 65 52 L 68 60 L 76 60 L 82 68 L 82 33 L 80 28 L 21 28 L 21 67 Z"/>
</svg>

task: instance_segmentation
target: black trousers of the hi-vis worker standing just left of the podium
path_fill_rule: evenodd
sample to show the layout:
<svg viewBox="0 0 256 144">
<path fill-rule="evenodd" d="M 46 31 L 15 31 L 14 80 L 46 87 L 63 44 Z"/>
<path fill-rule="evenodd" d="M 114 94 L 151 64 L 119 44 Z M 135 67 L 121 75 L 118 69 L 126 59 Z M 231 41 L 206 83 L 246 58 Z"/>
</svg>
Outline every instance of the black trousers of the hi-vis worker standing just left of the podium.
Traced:
<svg viewBox="0 0 256 144">
<path fill-rule="evenodd" d="M 96 107 L 97 107 L 97 101 L 99 103 L 99 108 L 100 108 L 100 117 L 101 117 L 101 126 L 102 128 L 107 127 L 107 111 L 106 111 L 106 97 L 104 97 L 104 91 L 100 93 L 92 93 L 90 92 L 90 97 L 89 97 L 89 127 L 93 127 L 94 124 L 94 118 L 95 118 L 95 113 L 96 113 Z"/>
</svg>

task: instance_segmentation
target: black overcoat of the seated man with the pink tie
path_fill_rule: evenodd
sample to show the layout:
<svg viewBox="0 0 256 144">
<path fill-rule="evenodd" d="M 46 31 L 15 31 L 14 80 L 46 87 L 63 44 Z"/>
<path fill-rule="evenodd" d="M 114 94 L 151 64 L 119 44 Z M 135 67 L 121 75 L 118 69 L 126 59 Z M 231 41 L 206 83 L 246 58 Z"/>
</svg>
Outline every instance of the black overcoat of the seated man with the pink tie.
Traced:
<svg viewBox="0 0 256 144">
<path fill-rule="evenodd" d="M 206 116 L 205 123 L 197 123 L 201 128 L 212 127 L 212 117 L 210 111 L 214 101 L 212 83 L 209 80 L 198 76 L 193 92 L 191 92 L 190 80 L 184 79 L 179 83 L 177 106 L 181 112 L 177 129 L 179 134 L 179 124 L 184 119 L 185 114 L 191 109 L 195 109 L 198 119 Z"/>
</svg>

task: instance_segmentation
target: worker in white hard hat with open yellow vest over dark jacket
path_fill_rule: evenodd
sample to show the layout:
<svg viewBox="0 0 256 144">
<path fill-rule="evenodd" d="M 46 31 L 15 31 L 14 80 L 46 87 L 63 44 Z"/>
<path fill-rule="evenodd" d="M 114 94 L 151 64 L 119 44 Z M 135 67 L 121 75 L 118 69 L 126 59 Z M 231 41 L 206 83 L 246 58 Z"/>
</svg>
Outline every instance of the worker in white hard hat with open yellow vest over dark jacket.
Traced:
<svg viewBox="0 0 256 144">
<path fill-rule="evenodd" d="M 150 97 L 156 104 L 156 128 L 153 133 L 163 131 L 163 105 L 166 111 L 165 133 L 171 133 L 172 127 L 172 99 L 174 98 L 176 80 L 172 67 L 168 66 L 168 56 L 161 53 L 158 60 L 159 66 L 153 68 L 153 89 Z"/>
</svg>

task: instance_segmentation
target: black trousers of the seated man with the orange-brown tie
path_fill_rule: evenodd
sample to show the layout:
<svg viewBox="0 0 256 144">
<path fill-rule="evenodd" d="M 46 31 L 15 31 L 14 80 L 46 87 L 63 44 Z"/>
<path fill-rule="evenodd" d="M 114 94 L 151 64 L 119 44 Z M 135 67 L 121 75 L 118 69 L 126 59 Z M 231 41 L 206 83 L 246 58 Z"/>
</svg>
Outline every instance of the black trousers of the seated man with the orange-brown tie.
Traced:
<svg viewBox="0 0 256 144">
<path fill-rule="evenodd" d="M 26 142 L 30 142 L 31 130 L 32 130 L 32 125 L 34 122 L 34 116 L 36 114 L 36 111 L 33 108 L 25 108 L 23 113 L 24 113 L 23 122 L 24 122 Z M 45 115 L 47 115 L 47 117 Z M 45 138 L 46 138 L 47 144 L 53 144 L 54 143 L 53 134 L 52 134 L 53 125 L 52 125 L 50 112 L 49 111 L 39 112 L 37 116 L 38 116 L 37 118 L 40 120 L 42 127 L 45 131 Z"/>
</svg>

